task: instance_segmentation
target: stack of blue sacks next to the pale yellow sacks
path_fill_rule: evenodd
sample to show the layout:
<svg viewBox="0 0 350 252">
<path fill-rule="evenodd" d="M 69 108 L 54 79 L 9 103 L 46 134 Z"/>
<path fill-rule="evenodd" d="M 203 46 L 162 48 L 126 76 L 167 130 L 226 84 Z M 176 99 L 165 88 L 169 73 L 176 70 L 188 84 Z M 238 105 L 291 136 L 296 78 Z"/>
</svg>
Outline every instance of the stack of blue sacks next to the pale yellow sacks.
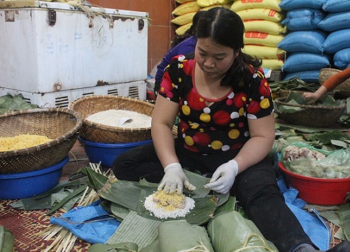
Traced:
<svg viewBox="0 0 350 252">
<path fill-rule="evenodd" d="M 324 53 L 323 43 L 328 33 L 318 24 L 325 18 L 322 6 L 327 0 L 281 0 L 279 6 L 286 10 L 287 34 L 277 45 L 287 52 L 282 71 L 285 80 L 299 77 L 307 83 L 318 82 L 321 69 L 330 67 L 330 55 Z"/>
</svg>

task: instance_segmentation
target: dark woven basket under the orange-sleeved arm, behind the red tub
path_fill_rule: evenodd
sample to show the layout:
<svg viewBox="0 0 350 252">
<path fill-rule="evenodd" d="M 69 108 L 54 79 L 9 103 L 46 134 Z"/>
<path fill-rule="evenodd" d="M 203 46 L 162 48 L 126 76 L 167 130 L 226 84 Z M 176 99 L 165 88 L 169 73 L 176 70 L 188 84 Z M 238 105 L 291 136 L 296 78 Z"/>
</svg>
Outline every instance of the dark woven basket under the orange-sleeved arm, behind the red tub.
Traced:
<svg viewBox="0 0 350 252">
<path fill-rule="evenodd" d="M 314 106 L 288 104 L 284 101 L 286 97 L 275 99 L 275 111 L 279 118 L 293 125 L 302 125 L 307 127 L 328 127 L 337 123 L 337 120 L 344 113 L 346 104 L 340 106 Z M 279 111 L 279 106 L 293 106 L 301 110 L 294 113 L 284 113 Z"/>
</svg>

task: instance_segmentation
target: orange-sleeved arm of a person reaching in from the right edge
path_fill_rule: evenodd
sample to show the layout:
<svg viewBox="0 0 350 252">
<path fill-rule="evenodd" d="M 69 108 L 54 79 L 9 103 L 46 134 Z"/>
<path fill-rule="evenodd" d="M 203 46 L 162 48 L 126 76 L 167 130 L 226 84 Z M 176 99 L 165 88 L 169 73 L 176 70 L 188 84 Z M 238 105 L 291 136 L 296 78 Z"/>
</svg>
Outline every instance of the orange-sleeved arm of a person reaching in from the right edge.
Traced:
<svg viewBox="0 0 350 252">
<path fill-rule="evenodd" d="M 346 79 L 350 78 L 350 67 L 347 69 L 330 76 L 325 82 L 318 87 L 315 92 L 304 92 L 302 97 L 307 101 L 308 104 L 316 102 L 326 92 L 333 90 L 338 85 L 342 84 Z"/>
</svg>

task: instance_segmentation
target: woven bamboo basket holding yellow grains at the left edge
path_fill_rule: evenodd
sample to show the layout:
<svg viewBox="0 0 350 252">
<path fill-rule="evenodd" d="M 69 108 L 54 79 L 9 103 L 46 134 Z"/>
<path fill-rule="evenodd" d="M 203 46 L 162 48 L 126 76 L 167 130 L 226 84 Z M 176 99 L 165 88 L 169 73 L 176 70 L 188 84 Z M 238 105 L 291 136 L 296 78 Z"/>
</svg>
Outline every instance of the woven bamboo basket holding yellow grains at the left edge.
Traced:
<svg viewBox="0 0 350 252">
<path fill-rule="evenodd" d="M 0 115 L 0 137 L 35 134 L 52 139 L 46 144 L 0 152 L 0 174 L 31 172 L 64 160 L 83 124 L 71 109 L 29 109 Z"/>
</svg>

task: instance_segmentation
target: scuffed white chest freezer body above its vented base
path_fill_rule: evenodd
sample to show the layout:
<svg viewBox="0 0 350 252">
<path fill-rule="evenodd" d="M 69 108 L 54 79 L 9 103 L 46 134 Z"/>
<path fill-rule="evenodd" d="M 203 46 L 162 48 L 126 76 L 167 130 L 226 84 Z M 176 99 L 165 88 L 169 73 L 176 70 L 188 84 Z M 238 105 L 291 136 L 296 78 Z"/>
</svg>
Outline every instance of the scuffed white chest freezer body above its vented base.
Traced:
<svg viewBox="0 0 350 252">
<path fill-rule="evenodd" d="M 8 8 L 10 2 L 30 7 Z M 13 90 L 59 96 L 145 83 L 141 97 L 146 96 L 148 13 L 45 1 L 0 3 L 0 95 Z"/>
</svg>

